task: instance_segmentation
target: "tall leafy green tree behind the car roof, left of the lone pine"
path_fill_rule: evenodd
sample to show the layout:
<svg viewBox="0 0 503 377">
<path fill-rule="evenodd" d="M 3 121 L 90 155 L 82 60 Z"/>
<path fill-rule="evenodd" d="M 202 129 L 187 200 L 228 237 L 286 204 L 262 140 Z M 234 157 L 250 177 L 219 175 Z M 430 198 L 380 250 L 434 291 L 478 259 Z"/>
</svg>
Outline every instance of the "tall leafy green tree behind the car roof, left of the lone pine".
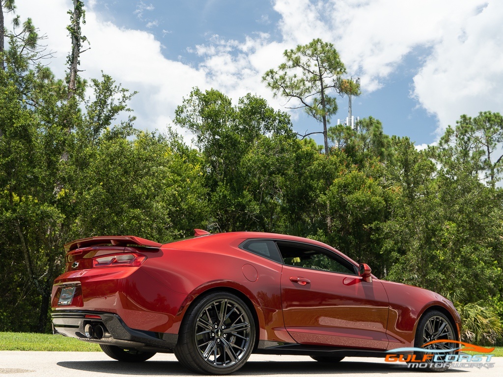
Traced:
<svg viewBox="0 0 503 377">
<path fill-rule="evenodd" d="M 233 106 L 218 90 L 195 88 L 177 108 L 175 123 L 194 134 L 201 150 L 215 227 L 274 229 L 280 184 L 297 143 L 288 115 L 256 96 Z"/>
</svg>

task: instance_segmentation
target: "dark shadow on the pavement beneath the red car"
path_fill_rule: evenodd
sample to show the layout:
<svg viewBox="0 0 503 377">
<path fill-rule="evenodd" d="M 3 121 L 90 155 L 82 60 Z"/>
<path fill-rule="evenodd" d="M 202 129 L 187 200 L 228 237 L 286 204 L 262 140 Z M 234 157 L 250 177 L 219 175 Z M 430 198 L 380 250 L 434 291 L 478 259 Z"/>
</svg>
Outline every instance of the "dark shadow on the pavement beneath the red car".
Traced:
<svg viewBox="0 0 503 377">
<path fill-rule="evenodd" d="M 90 372 L 126 374 L 126 375 L 197 375 L 184 368 L 178 361 L 145 361 L 127 363 L 119 361 L 61 361 L 57 365 Z M 449 369 L 450 371 L 465 371 Z M 341 361 L 337 364 L 317 361 L 247 361 L 233 375 L 299 375 L 333 373 L 403 373 L 407 366 L 403 363 L 389 364 L 379 362 Z M 410 372 L 416 372 L 411 369 Z"/>
</svg>

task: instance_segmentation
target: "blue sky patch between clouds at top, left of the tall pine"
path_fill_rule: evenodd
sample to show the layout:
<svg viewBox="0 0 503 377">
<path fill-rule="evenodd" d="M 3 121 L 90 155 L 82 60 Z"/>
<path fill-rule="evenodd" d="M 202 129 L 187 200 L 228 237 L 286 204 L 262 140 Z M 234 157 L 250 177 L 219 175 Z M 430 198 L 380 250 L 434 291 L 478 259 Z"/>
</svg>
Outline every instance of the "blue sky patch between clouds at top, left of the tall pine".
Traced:
<svg viewBox="0 0 503 377">
<path fill-rule="evenodd" d="M 270 0 L 98 0 L 95 9 L 103 20 L 154 34 L 164 45 L 166 58 L 193 63 L 200 59 L 187 49 L 213 35 L 240 41 L 256 32 L 274 35 L 280 20 Z"/>
</svg>

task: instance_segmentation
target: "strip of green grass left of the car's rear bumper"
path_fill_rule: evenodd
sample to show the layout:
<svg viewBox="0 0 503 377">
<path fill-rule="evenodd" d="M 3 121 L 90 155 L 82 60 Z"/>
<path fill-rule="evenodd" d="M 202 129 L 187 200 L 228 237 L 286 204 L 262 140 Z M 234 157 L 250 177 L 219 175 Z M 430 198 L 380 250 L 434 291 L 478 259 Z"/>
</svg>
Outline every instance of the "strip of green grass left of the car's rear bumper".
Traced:
<svg viewBox="0 0 503 377">
<path fill-rule="evenodd" d="M 0 351 L 101 351 L 101 348 L 62 335 L 0 332 Z"/>
</svg>

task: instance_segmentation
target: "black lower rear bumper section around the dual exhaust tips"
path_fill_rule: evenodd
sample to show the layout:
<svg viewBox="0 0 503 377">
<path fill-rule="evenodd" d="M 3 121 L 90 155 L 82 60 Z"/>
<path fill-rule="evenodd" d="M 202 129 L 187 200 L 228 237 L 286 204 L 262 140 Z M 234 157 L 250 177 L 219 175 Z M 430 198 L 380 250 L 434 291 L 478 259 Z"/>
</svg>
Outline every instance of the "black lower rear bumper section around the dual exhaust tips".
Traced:
<svg viewBox="0 0 503 377">
<path fill-rule="evenodd" d="M 68 310 L 51 314 L 53 332 L 83 341 L 110 344 L 122 348 L 136 348 L 143 351 L 172 352 L 177 344 L 177 334 L 135 330 L 128 327 L 114 313 Z M 99 338 L 86 336 L 86 326 L 103 328 Z M 89 334 L 89 332 L 88 332 Z"/>
</svg>

